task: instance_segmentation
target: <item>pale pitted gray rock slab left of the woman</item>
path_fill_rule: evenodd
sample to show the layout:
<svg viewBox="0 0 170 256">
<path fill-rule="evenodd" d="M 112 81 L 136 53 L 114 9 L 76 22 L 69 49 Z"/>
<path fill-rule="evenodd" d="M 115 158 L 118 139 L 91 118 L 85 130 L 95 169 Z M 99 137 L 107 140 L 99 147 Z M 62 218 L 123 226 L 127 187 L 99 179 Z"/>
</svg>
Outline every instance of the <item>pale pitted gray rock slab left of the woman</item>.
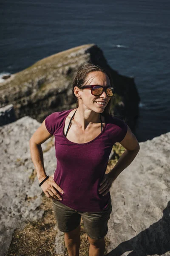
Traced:
<svg viewBox="0 0 170 256">
<path fill-rule="evenodd" d="M 35 119 L 25 116 L 0 127 L 0 256 L 8 250 L 13 231 L 28 221 L 40 219 L 44 212 L 39 209 L 42 189 L 37 177 L 30 178 L 34 165 L 29 140 L 39 126 Z M 43 150 L 48 143 L 49 140 L 42 145 Z M 45 170 L 52 175 L 56 168 L 54 148 L 46 151 L 44 158 Z"/>
</svg>

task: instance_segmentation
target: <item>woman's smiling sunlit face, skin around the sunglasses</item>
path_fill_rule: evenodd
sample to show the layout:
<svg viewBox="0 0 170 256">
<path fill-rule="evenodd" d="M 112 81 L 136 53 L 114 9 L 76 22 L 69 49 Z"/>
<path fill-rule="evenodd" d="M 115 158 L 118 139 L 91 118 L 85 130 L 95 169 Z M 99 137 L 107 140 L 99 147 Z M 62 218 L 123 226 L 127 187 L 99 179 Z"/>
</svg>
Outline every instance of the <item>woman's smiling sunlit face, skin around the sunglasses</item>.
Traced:
<svg viewBox="0 0 170 256">
<path fill-rule="evenodd" d="M 93 71 L 88 73 L 85 84 L 83 85 L 102 85 L 106 87 L 110 86 L 111 84 L 108 76 L 105 73 L 101 71 Z M 79 90 L 79 94 L 81 96 L 82 104 L 84 104 L 88 109 L 91 109 L 97 113 L 102 113 L 111 99 L 111 97 L 107 96 L 105 90 L 99 96 L 94 96 L 91 94 L 91 88 Z"/>
</svg>

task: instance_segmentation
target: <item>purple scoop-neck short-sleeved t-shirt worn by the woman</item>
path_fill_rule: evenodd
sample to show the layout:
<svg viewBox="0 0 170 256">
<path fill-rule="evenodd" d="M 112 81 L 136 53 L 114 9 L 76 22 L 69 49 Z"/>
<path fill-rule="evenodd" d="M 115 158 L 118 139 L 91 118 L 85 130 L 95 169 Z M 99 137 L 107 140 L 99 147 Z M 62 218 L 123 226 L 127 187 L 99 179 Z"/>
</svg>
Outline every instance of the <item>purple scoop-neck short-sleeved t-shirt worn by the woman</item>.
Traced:
<svg viewBox="0 0 170 256">
<path fill-rule="evenodd" d="M 105 174 L 113 144 L 121 142 L 127 132 L 122 120 L 105 118 L 102 132 L 90 142 L 74 143 L 64 136 L 65 119 L 73 109 L 54 112 L 45 119 L 45 126 L 55 137 L 57 168 L 54 180 L 64 191 L 59 201 L 79 212 L 99 212 L 105 209 L 110 192 L 102 196 L 99 184 Z"/>
</svg>

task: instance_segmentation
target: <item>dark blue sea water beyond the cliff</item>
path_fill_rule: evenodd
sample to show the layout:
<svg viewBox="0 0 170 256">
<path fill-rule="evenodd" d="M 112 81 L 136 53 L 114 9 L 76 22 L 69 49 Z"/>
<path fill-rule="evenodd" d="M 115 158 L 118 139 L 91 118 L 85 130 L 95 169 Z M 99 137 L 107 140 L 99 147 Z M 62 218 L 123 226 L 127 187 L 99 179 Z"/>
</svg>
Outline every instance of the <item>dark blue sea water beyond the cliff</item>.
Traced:
<svg viewBox="0 0 170 256">
<path fill-rule="evenodd" d="M 113 69 L 135 76 L 141 97 L 137 139 L 170 131 L 169 0 L 5 0 L 0 17 L 0 73 L 97 44 Z"/>
</svg>

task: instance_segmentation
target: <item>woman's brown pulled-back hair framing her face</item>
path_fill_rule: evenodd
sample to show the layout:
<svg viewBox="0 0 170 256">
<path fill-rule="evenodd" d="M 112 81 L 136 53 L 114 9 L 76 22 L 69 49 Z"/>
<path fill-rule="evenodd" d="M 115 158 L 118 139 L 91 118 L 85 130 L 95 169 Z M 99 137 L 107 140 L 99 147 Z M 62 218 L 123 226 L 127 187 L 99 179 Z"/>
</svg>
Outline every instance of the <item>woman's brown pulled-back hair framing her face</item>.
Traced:
<svg viewBox="0 0 170 256">
<path fill-rule="evenodd" d="M 113 87 L 113 81 L 112 81 L 111 75 L 110 75 L 110 73 L 108 73 L 108 71 L 106 71 L 103 68 L 101 68 L 99 66 L 96 66 L 94 64 L 85 64 L 85 65 L 83 65 L 82 67 L 79 68 L 76 76 L 74 77 L 73 83 L 72 83 L 72 93 L 73 93 L 74 99 L 76 100 L 76 103 L 77 103 L 76 107 L 77 108 L 79 107 L 79 100 L 74 94 L 74 87 L 75 86 L 77 86 L 79 88 L 82 87 L 82 85 L 85 84 L 87 75 L 91 72 L 94 72 L 94 71 L 101 71 L 101 72 L 105 73 L 108 76 L 109 80 L 110 80 L 111 86 Z M 108 105 L 105 107 L 105 110 L 102 113 L 103 116 L 108 116 L 108 115 L 111 114 L 111 105 L 112 105 L 112 98 L 113 97 L 114 96 L 111 97 L 110 101 L 108 102 Z"/>
</svg>

